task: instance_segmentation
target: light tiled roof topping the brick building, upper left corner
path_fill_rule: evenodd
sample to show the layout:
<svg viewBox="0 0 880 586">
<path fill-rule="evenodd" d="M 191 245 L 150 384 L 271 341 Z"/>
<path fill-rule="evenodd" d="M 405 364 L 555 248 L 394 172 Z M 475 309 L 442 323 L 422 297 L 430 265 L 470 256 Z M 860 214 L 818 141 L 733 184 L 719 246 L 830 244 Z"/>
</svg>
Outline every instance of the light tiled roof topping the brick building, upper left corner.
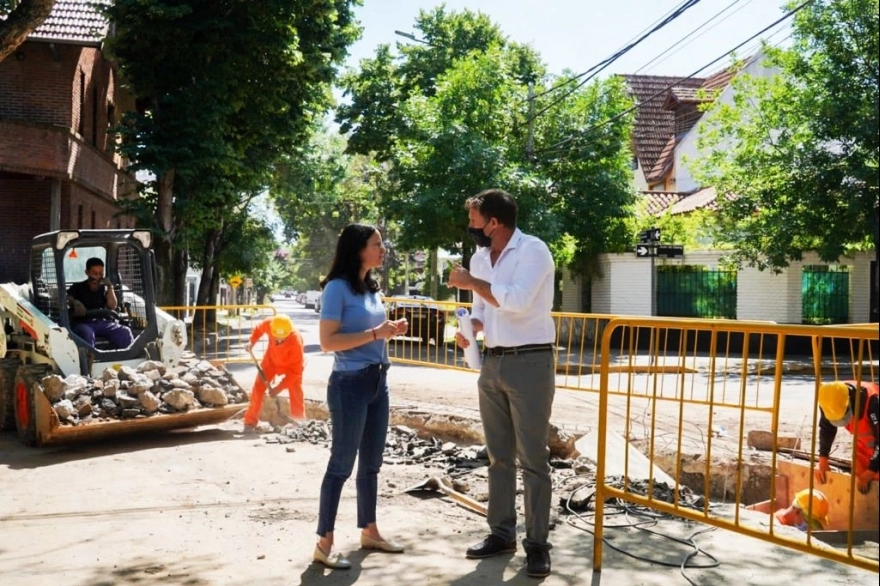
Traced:
<svg viewBox="0 0 880 586">
<path fill-rule="evenodd" d="M 57 0 L 49 18 L 28 40 L 100 45 L 109 25 L 95 4 L 109 5 L 111 0 Z"/>
</svg>

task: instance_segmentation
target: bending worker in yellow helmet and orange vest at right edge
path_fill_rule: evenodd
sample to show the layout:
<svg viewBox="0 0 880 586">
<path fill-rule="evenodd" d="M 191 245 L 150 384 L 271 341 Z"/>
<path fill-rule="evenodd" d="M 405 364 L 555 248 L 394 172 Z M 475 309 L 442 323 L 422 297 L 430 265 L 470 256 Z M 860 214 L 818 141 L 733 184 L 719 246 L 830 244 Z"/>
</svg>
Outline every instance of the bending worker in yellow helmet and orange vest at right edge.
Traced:
<svg viewBox="0 0 880 586">
<path fill-rule="evenodd" d="M 880 471 L 880 391 L 876 383 L 834 381 L 819 387 L 819 464 L 816 481 L 825 484 L 828 455 L 837 437 L 837 428 L 853 434 L 856 457 L 853 473 L 856 487 L 866 494 Z"/>
</svg>

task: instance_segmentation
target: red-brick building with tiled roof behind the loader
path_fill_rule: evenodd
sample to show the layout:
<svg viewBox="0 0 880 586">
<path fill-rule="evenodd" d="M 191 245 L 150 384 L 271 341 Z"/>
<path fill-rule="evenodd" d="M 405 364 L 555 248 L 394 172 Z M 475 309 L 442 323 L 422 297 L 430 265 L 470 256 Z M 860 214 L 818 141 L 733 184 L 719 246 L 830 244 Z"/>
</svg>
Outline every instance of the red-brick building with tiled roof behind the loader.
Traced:
<svg viewBox="0 0 880 586">
<path fill-rule="evenodd" d="M 31 239 L 64 228 L 127 228 L 117 202 L 134 177 L 109 128 L 133 100 L 102 51 L 94 0 L 59 0 L 0 61 L 0 283 L 27 280 Z"/>
</svg>

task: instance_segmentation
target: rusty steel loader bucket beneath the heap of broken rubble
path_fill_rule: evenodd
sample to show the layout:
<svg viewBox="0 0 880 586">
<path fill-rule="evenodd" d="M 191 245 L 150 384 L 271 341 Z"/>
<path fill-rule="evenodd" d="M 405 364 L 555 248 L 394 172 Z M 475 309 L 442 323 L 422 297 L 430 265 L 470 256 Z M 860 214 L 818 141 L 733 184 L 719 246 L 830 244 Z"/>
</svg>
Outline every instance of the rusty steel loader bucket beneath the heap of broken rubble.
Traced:
<svg viewBox="0 0 880 586">
<path fill-rule="evenodd" d="M 235 405 L 226 405 L 224 407 L 209 407 L 194 409 L 186 413 L 173 414 L 157 414 L 151 417 L 123 419 L 112 421 L 96 421 L 83 425 L 64 425 L 55 414 L 51 403 L 46 396 L 35 388 L 33 384 L 27 385 L 29 388 L 22 388 L 24 381 L 19 380 L 16 387 L 16 393 L 27 392 L 27 404 L 30 408 L 30 414 L 27 418 L 33 418 L 32 421 L 27 420 L 27 427 L 31 428 L 31 432 L 19 429 L 19 435 L 22 440 L 30 445 L 35 446 L 51 446 L 66 443 L 74 443 L 80 441 L 102 440 L 114 437 L 122 437 L 129 434 L 146 433 L 151 431 L 165 431 L 172 429 L 184 429 L 189 427 L 197 427 L 199 425 L 211 425 L 221 423 L 233 417 L 240 411 L 247 409 L 247 403 L 236 403 Z M 18 399 L 19 397 L 17 397 Z M 21 397 L 24 399 L 24 397 Z M 16 407 L 19 406 L 24 416 L 23 410 L 25 401 L 17 401 Z M 18 421 L 19 425 L 25 423 Z M 25 435 L 22 435 L 25 432 Z M 28 437 L 29 436 L 29 437 Z"/>
</svg>

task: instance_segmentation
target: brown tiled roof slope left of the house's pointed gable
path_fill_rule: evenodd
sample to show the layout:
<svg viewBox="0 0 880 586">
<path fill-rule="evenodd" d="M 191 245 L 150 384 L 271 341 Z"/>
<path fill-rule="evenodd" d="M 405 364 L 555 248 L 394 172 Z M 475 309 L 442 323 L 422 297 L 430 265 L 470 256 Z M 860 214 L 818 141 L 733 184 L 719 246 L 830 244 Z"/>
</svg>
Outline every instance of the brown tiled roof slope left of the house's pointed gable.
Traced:
<svg viewBox="0 0 880 586">
<path fill-rule="evenodd" d="M 639 165 L 646 172 L 663 152 L 669 137 L 675 132 L 675 113 L 663 108 L 668 88 L 698 88 L 702 78 L 682 79 L 660 75 L 624 75 L 633 99 L 641 104 L 636 110 L 633 142 Z"/>
</svg>

